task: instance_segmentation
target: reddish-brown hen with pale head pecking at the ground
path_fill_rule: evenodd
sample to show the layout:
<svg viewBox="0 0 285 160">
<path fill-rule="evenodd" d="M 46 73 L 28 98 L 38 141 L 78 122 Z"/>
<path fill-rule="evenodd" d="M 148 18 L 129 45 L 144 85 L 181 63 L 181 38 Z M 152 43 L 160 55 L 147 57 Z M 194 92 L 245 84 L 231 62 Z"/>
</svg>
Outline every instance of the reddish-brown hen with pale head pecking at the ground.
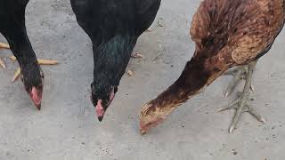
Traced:
<svg viewBox="0 0 285 160">
<path fill-rule="evenodd" d="M 240 98 L 220 110 L 236 108 L 229 132 L 243 112 L 265 122 L 247 104 L 251 76 L 256 61 L 270 50 L 281 32 L 284 20 L 284 0 L 204 0 L 191 22 L 191 38 L 196 44 L 194 56 L 174 84 L 142 107 L 140 131 L 148 132 L 229 68 L 243 65 L 247 65 L 246 72 L 240 68 L 231 72 L 235 76 L 246 73 Z"/>
</svg>

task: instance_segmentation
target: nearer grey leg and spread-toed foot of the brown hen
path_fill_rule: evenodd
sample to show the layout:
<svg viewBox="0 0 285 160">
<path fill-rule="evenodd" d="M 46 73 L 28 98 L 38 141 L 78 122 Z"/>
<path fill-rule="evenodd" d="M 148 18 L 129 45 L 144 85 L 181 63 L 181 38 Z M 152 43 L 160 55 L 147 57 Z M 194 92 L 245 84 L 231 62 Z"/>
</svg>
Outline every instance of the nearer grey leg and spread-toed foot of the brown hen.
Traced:
<svg viewBox="0 0 285 160">
<path fill-rule="evenodd" d="M 241 94 L 239 95 L 239 98 L 237 100 L 232 101 L 232 103 L 228 107 L 218 109 L 218 112 L 224 111 L 224 110 L 227 110 L 227 109 L 231 109 L 231 108 L 235 108 L 236 109 L 235 115 L 233 116 L 233 119 L 232 119 L 232 124 L 231 124 L 230 129 L 229 129 L 230 133 L 232 133 L 233 130 L 236 128 L 236 125 L 238 124 L 238 122 L 240 120 L 240 116 L 244 112 L 248 112 L 250 115 L 256 117 L 256 119 L 259 122 L 265 123 L 265 118 L 260 116 L 256 112 L 256 110 L 254 108 L 250 107 L 248 105 L 248 103 L 247 103 L 248 97 L 249 97 L 251 80 L 252 80 L 252 75 L 253 75 L 254 68 L 256 68 L 256 61 L 251 62 L 250 64 L 248 64 L 248 68 L 246 69 L 247 70 L 247 72 L 246 72 L 247 74 L 245 76 L 246 84 L 244 86 L 243 92 L 241 92 Z M 242 69 L 244 69 L 244 68 L 242 68 Z M 242 73 L 242 71 L 240 73 Z"/>
</svg>

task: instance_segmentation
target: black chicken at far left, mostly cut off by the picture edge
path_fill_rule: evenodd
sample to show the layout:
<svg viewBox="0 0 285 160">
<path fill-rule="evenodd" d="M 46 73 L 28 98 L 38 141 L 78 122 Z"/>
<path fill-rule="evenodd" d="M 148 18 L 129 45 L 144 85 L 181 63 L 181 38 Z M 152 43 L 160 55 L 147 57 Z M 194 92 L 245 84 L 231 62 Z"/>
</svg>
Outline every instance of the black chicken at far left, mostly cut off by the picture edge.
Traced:
<svg viewBox="0 0 285 160">
<path fill-rule="evenodd" d="M 37 57 L 29 42 L 25 26 L 25 10 L 28 0 L 0 0 L 0 33 L 9 45 L 1 44 L 0 48 L 10 48 L 20 64 L 19 72 L 28 95 L 38 109 L 41 108 L 44 74 L 37 62 Z M 43 61 L 43 60 L 42 60 Z M 2 64 L 4 62 L 0 60 Z M 44 60 L 45 63 L 45 60 Z M 2 65 L 4 66 L 4 65 Z"/>
</svg>

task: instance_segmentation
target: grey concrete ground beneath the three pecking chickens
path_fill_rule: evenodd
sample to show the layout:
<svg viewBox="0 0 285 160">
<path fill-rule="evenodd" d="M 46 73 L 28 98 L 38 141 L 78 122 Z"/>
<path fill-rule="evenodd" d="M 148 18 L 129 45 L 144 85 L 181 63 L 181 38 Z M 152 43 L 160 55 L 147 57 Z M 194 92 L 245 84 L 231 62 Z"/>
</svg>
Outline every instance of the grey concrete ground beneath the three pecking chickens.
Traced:
<svg viewBox="0 0 285 160">
<path fill-rule="evenodd" d="M 199 0 L 163 0 L 158 17 L 164 27 L 140 37 L 131 60 L 133 77 L 124 76 L 119 92 L 102 123 L 95 117 L 89 95 L 93 53 L 88 36 L 78 27 L 68 0 L 31 0 L 28 35 L 38 58 L 61 65 L 43 67 L 43 109 L 32 105 L 20 81 L 12 84 L 16 63 L 0 69 L 0 159 L 27 160 L 276 160 L 285 153 L 285 33 L 256 68 L 254 105 L 267 120 L 260 124 L 245 114 L 238 129 L 227 132 L 232 111 L 216 109 L 231 77 L 221 77 L 192 98 L 167 121 L 141 136 L 137 113 L 180 75 L 194 51 L 189 36 L 191 17 Z M 4 41 L 4 37 L 0 37 Z M 10 55 L 10 51 L 0 51 Z M 241 90 L 240 86 L 240 90 Z"/>
</svg>

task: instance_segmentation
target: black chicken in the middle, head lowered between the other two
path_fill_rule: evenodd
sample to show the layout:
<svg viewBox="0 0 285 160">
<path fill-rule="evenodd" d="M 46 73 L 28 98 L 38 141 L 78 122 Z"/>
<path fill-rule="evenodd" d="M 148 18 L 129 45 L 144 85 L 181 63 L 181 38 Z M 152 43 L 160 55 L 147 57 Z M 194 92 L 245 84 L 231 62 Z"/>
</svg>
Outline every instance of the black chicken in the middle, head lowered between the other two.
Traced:
<svg viewBox="0 0 285 160">
<path fill-rule="evenodd" d="M 118 91 L 137 38 L 151 26 L 160 0 L 70 0 L 94 51 L 91 100 L 99 121 Z"/>
</svg>

